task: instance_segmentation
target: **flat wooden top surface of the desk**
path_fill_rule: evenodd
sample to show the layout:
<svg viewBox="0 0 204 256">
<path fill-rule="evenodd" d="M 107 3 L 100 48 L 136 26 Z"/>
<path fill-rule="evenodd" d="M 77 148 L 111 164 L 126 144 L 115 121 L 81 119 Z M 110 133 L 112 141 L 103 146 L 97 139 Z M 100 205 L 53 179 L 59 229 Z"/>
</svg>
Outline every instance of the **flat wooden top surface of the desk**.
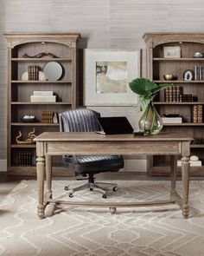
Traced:
<svg viewBox="0 0 204 256">
<path fill-rule="evenodd" d="M 159 135 L 99 135 L 96 133 L 44 132 L 34 141 L 193 141 L 193 138 L 160 133 Z"/>
</svg>

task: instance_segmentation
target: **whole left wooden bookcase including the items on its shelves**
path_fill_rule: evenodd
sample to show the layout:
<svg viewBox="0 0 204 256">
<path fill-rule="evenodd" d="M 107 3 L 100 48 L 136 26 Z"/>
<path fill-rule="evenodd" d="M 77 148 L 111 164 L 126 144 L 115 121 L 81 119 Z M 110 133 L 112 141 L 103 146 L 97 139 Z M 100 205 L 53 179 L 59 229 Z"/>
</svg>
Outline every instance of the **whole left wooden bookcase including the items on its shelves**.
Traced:
<svg viewBox="0 0 204 256">
<path fill-rule="evenodd" d="M 6 33 L 4 36 L 8 46 L 8 174 L 35 175 L 35 143 L 29 137 L 44 131 L 59 131 L 57 115 L 78 105 L 80 34 Z M 34 94 L 35 100 L 31 99 Z M 53 174 L 72 175 L 62 167 L 60 156 L 53 161 Z"/>
</svg>

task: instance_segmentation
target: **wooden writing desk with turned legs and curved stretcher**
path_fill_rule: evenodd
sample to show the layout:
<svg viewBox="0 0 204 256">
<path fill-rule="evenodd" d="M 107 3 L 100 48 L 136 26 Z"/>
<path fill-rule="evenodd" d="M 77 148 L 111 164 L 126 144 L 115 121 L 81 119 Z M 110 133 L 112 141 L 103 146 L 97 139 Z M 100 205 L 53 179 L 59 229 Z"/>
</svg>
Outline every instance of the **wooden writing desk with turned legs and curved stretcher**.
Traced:
<svg viewBox="0 0 204 256">
<path fill-rule="evenodd" d="M 112 213 L 117 207 L 146 207 L 170 203 L 178 204 L 182 214 L 188 218 L 189 155 L 191 138 L 162 134 L 153 136 L 99 135 L 95 133 L 43 133 L 35 138 L 37 154 L 38 216 L 45 216 L 48 203 L 79 205 L 84 207 L 109 207 Z M 63 154 L 123 154 L 123 155 L 170 155 L 171 189 L 169 200 L 148 202 L 67 202 L 54 200 L 52 195 L 52 155 Z M 175 190 L 177 155 L 182 155 L 182 196 Z M 44 193 L 44 177 L 47 177 L 47 189 Z"/>
</svg>

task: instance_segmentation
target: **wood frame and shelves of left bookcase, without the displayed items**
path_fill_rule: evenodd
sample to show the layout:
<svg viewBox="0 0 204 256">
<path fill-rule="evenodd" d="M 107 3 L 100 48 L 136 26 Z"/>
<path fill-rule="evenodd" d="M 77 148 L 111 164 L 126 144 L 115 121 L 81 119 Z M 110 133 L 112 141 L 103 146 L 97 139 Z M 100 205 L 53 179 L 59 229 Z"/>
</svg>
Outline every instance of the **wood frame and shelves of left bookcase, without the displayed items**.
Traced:
<svg viewBox="0 0 204 256">
<path fill-rule="evenodd" d="M 8 47 L 8 142 L 7 168 L 10 175 L 35 175 L 35 163 L 31 167 L 18 166 L 18 153 L 27 152 L 35 156 L 35 144 L 18 145 L 16 135 L 22 132 L 26 138 L 32 128 L 35 134 L 43 131 L 58 131 L 58 124 L 41 122 L 42 111 L 61 113 L 67 108 L 76 108 L 77 79 L 76 79 L 76 51 L 80 33 L 5 33 Z M 35 56 L 41 52 L 49 52 L 57 57 L 23 58 L 22 54 Z M 29 65 L 37 65 L 40 70 L 48 62 L 59 62 L 63 75 L 58 81 L 22 81 L 22 74 L 28 71 Z M 30 102 L 30 95 L 35 90 L 52 90 L 57 97 L 56 102 Z M 37 122 L 22 123 L 24 115 L 35 115 Z M 55 159 L 55 166 L 61 165 L 61 158 Z M 66 168 L 58 167 L 56 174 L 69 175 Z M 55 172 L 54 172 L 55 173 Z M 73 173 L 72 173 L 73 174 Z"/>
</svg>

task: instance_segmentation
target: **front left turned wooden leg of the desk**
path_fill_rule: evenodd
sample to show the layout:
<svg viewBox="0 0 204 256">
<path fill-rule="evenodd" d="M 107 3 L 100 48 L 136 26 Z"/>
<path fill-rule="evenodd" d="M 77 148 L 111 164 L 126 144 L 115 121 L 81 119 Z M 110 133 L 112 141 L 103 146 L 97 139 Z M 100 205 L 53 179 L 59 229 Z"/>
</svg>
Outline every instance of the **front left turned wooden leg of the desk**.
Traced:
<svg viewBox="0 0 204 256">
<path fill-rule="evenodd" d="M 44 175 L 45 175 L 45 157 L 38 156 L 36 159 L 37 167 L 37 191 L 38 191 L 38 206 L 37 214 L 40 219 L 43 219 L 45 216 L 45 206 L 43 204 L 44 200 Z"/>
</svg>

